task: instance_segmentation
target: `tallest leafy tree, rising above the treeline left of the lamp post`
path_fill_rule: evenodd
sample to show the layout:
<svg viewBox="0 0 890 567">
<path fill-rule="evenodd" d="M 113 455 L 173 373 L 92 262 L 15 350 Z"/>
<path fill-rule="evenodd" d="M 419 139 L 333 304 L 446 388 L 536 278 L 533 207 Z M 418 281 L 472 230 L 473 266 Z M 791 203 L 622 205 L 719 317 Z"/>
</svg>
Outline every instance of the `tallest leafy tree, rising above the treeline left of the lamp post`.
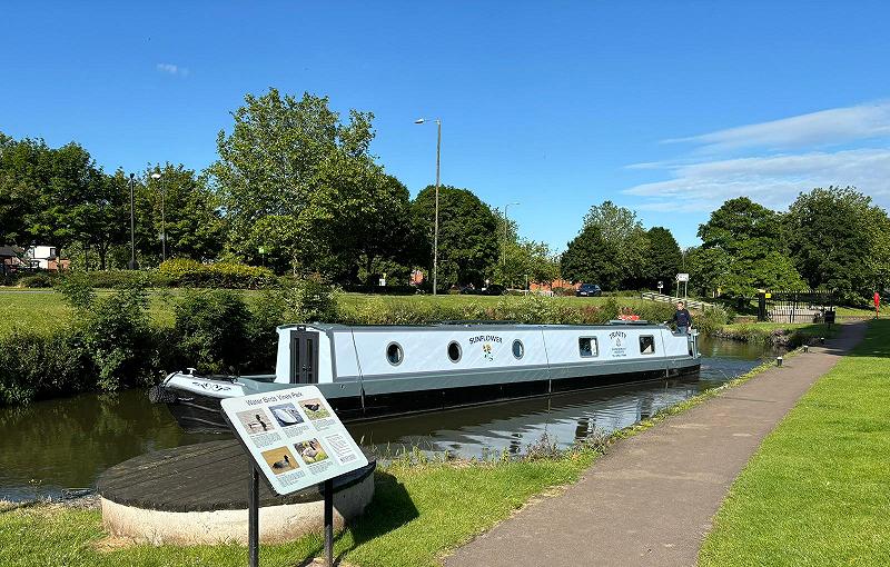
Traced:
<svg viewBox="0 0 890 567">
<path fill-rule="evenodd" d="M 243 257 L 256 255 L 244 243 L 257 236 L 258 225 L 269 222 L 264 219 L 275 218 L 276 235 L 286 239 L 280 251 L 299 269 L 303 258 L 297 239 L 317 240 L 316 235 L 299 230 L 312 218 L 299 216 L 326 199 L 316 193 L 329 181 L 330 168 L 354 160 L 349 165 L 354 176 L 356 165 L 376 167 L 368 153 L 373 115 L 353 110 L 349 121 L 342 123 L 328 108 L 327 97 L 307 92 L 298 100 L 269 89 L 261 97 L 247 94 L 245 106 L 233 117 L 231 133 L 220 131 L 217 137 L 219 160 L 208 169 L 231 228 L 229 243 Z M 328 175 L 323 176 L 325 169 Z"/>
</svg>

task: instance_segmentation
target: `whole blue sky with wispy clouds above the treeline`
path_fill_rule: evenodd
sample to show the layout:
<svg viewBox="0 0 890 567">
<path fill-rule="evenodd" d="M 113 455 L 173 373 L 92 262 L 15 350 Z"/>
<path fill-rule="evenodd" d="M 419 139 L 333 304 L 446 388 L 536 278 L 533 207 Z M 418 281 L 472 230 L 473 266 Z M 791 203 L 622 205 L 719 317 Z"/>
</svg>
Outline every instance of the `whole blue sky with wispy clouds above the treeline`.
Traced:
<svg viewBox="0 0 890 567">
<path fill-rule="evenodd" d="M 121 6 L 123 4 L 123 6 Z M 323 6 L 324 4 L 324 6 Z M 202 169 L 246 92 L 375 113 L 412 195 L 473 189 L 557 250 L 611 199 L 683 246 L 725 199 L 856 185 L 890 205 L 882 2 L 4 4 L 0 131 L 106 168 Z"/>
</svg>

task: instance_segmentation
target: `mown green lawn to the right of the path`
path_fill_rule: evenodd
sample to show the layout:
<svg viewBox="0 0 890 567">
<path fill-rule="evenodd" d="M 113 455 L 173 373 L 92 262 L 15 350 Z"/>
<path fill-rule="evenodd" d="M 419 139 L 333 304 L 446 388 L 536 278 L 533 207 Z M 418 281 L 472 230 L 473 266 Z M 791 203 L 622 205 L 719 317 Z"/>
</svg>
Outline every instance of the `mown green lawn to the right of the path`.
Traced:
<svg viewBox="0 0 890 567">
<path fill-rule="evenodd" d="M 798 402 L 733 484 L 703 567 L 890 565 L 890 321 Z"/>
</svg>

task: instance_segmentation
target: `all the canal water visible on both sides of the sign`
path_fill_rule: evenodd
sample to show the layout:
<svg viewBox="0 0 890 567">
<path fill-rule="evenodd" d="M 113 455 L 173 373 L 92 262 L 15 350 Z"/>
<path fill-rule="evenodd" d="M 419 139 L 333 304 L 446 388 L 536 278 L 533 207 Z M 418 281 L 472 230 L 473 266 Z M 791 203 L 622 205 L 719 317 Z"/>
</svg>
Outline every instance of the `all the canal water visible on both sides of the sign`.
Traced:
<svg viewBox="0 0 890 567">
<path fill-rule="evenodd" d="M 418 447 L 453 456 L 522 454 L 542 436 L 560 447 L 609 432 L 713 388 L 774 354 L 761 346 L 702 340 L 699 380 L 575 391 L 522 401 L 389 418 L 349 426 L 379 455 Z M 186 434 L 145 391 L 88 394 L 0 408 L 0 500 L 60 497 L 91 489 L 108 467 L 145 452 L 222 438 Z"/>
</svg>

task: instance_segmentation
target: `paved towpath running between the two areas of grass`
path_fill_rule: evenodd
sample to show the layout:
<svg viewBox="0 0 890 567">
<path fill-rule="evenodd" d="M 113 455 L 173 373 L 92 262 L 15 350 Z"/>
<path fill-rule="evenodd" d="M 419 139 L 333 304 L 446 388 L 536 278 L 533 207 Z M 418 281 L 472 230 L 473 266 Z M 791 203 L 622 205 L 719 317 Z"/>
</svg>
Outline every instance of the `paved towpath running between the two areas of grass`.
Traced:
<svg viewBox="0 0 890 567">
<path fill-rule="evenodd" d="M 445 565 L 694 566 L 760 442 L 864 328 L 844 325 L 824 347 L 615 444 L 564 494 L 524 508 Z"/>
</svg>

